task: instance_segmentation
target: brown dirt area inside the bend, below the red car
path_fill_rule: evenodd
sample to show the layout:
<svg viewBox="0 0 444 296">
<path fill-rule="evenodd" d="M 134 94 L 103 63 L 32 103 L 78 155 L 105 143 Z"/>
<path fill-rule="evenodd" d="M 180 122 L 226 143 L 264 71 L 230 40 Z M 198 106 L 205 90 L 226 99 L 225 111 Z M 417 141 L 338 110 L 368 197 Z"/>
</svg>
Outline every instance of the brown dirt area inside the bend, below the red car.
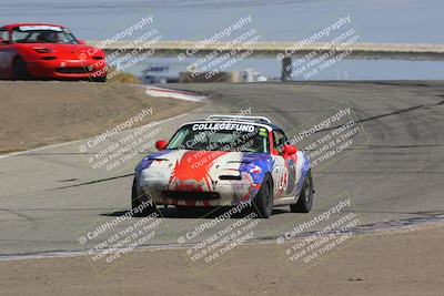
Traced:
<svg viewBox="0 0 444 296">
<path fill-rule="evenodd" d="M 97 135 L 150 108 L 153 113 L 131 127 L 195 106 L 149 98 L 138 84 L 0 81 L 0 153 Z"/>
</svg>

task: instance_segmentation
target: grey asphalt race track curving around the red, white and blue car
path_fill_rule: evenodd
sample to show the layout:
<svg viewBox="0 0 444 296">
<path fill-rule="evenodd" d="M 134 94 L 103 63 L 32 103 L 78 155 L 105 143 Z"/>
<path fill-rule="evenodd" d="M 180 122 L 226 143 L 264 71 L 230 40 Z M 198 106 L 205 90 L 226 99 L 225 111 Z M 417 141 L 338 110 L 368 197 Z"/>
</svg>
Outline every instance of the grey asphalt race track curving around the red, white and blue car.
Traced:
<svg viewBox="0 0 444 296">
<path fill-rule="evenodd" d="M 195 84 L 172 88 L 211 95 L 201 109 L 161 123 L 157 139 L 169 139 L 178 124 L 211 113 L 251 106 L 285 131 L 297 130 L 325 112 L 349 105 L 361 130 L 359 143 L 330 165 L 314 167 L 314 213 L 334 196 L 353 201 L 362 229 L 414 225 L 444 214 L 444 82 L 323 82 Z M 332 112 L 335 113 L 335 112 Z M 365 137 L 364 137 L 365 133 Z M 121 133 L 113 141 L 124 137 Z M 88 163 L 85 141 L 38 149 L 0 159 L 0 255 L 38 255 L 87 251 L 94 242 L 79 237 L 130 210 L 135 163 L 142 154 L 107 172 Z M 317 207 L 316 207 L 317 206 Z M 145 245 L 176 245 L 194 227 L 201 213 L 161 210 L 157 238 Z M 282 207 L 261 223 L 258 241 L 274 239 L 286 225 L 306 214 Z M 118 225 L 124 228 L 133 220 Z M 204 218 L 203 218 L 204 220 Z M 222 227 L 222 226 L 220 226 Z M 214 229 L 213 229 L 214 231 Z M 192 242 L 190 242 L 192 243 Z"/>
</svg>

